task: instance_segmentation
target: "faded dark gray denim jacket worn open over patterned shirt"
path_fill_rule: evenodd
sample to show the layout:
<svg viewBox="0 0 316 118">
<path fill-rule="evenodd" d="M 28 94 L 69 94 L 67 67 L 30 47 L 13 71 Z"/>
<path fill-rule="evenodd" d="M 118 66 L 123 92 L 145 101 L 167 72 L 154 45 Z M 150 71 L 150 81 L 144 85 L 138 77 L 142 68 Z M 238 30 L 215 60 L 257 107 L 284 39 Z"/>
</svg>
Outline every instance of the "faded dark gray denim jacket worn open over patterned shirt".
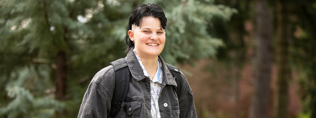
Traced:
<svg viewBox="0 0 316 118">
<path fill-rule="evenodd" d="M 161 60 L 163 82 L 159 96 L 159 110 L 161 118 L 196 118 L 196 110 L 193 102 L 193 94 L 185 76 L 182 90 L 179 91 L 179 100 L 173 86 L 177 86 L 165 62 Z M 127 114 L 120 109 L 114 118 L 152 118 L 150 78 L 144 76 L 143 70 L 133 52 L 133 49 L 125 57 L 133 76 L 130 81 L 125 103 Z M 115 73 L 113 66 L 107 66 L 95 74 L 83 97 L 78 118 L 106 118 L 110 113 L 111 100 L 114 91 Z"/>
</svg>

